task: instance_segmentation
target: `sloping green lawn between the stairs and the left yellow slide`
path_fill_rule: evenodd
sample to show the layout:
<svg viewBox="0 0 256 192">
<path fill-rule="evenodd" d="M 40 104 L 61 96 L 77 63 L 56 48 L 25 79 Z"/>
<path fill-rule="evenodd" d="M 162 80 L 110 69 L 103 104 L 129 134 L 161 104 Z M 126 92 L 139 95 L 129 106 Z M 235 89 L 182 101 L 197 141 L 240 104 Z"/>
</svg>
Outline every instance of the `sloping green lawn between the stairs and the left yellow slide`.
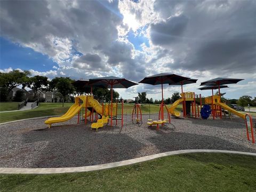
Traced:
<svg viewBox="0 0 256 192">
<path fill-rule="evenodd" d="M 0 123 L 33 117 L 62 115 L 65 114 L 73 104 L 74 103 L 64 103 L 64 107 L 62 107 L 62 103 L 39 103 L 39 107 L 32 110 L 1 113 Z"/>
</svg>

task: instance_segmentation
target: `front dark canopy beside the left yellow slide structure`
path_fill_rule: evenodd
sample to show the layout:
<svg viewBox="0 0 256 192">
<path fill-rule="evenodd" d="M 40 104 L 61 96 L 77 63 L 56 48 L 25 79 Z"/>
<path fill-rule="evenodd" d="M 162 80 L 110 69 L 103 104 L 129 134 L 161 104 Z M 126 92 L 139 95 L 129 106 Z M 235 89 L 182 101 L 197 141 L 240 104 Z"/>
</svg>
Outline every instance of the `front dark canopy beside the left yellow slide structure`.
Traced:
<svg viewBox="0 0 256 192">
<path fill-rule="evenodd" d="M 129 88 L 133 85 L 138 85 L 138 83 L 133 83 L 125 78 L 115 77 L 115 76 L 108 76 L 108 77 L 99 77 L 99 78 L 92 78 L 90 79 L 90 84 L 95 86 L 105 86 L 106 88 Z M 111 86 L 112 85 L 112 86 Z"/>
</svg>

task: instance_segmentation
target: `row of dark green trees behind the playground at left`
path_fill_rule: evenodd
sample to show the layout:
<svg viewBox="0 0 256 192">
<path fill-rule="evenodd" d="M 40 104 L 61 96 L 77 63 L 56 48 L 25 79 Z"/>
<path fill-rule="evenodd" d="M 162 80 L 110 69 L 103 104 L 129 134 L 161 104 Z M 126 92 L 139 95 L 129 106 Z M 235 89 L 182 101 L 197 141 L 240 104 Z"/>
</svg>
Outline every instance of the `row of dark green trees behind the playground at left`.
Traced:
<svg viewBox="0 0 256 192">
<path fill-rule="evenodd" d="M 34 92 L 34 98 L 37 98 L 38 90 L 42 91 L 58 91 L 61 95 L 62 102 L 65 98 L 73 98 L 75 95 L 90 93 L 90 87 L 75 86 L 75 80 L 69 77 L 55 77 L 51 81 L 45 76 L 33 76 L 28 70 L 12 70 L 9 73 L 0 73 L 0 99 L 7 101 L 8 95 L 14 87 L 22 85 L 22 89 L 29 87 Z M 23 98 L 23 91 L 17 91 L 14 100 L 20 101 Z M 93 95 L 100 101 L 110 101 L 110 90 L 104 88 L 93 87 Z M 113 92 L 114 100 L 119 98 L 119 93 Z"/>
</svg>

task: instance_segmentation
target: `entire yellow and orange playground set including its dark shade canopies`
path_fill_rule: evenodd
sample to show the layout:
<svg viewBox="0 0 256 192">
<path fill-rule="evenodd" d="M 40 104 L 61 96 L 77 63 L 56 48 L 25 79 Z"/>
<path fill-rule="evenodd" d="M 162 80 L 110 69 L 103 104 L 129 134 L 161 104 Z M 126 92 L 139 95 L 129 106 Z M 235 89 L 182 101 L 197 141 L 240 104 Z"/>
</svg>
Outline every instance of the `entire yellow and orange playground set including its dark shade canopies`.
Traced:
<svg viewBox="0 0 256 192">
<path fill-rule="evenodd" d="M 178 105 L 182 103 L 182 112 L 183 117 L 194 117 L 199 118 L 199 113 L 201 113 L 201 116 L 203 119 L 207 119 L 210 115 L 212 115 L 213 119 L 220 117 L 222 118 L 222 110 L 224 111 L 224 114 L 228 111 L 229 116 L 230 114 L 235 114 L 238 117 L 241 117 L 243 119 L 246 119 L 246 115 L 239 113 L 238 111 L 234 110 L 233 108 L 230 108 L 226 103 L 221 102 L 221 94 L 220 94 L 220 88 L 221 85 L 220 81 L 223 81 L 223 83 L 231 84 L 235 81 L 241 81 L 242 79 L 230 79 L 230 78 L 217 78 L 212 79 L 212 81 L 209 82 L 203 82 L 203 83 L 214 83 L 214 81 L 217 81 L 218 83 L 218 89 L 219 89 L 219 95 L 213 95 L 213 89 L 214 86 L 210 85 L 210 87 L 202 87 L 201 90 L 211 89 L 212 90 L 212 96 L 210 97 L 201 97 L 201 94 L 195 94 L 195 92 L 183 92 L 182 85 L 190 84 L 190 83 L 196 83 L 197 79 L 189 79 L 188 77 L 182 77 L 175 74 L 157 74 L 154 76 L 145 77 L 140 83 L 146 83 L 151 85 L 159 85 L 161 84 L 162 88 L 162 102 L 159 108 L 158 113 L 158 120 L 153 120 L 150 118 L 150 105 L 149 105 L 149 119 L 147 122 L 147 125 L 152 126 L 156 125 L 157 129 L 159 129 L 159 125 L 164 125 L 165 123 L 169 122 L 171 123 L 170 114 L 175 117 L 180 117 L 181 113 L 176 110 Z M 91 82 L 90 82 L 91 81 Z M 226 82 L 228 81 L 228 82 Z M 49 127 L 53 123 L 60 123 L 65 122 L 71 118 L 73 118 L 76 114 L 78 114 L 77 123 L 81 123 L 84 121 L 86 124 L 87 121 L 89 121 L 87 118 L 90 117 L 91 124 L 91 130 L 98 129 L 100 127 L 105 126 L 109 120 L 110 120 L 110 126 L 113 125 L 113 121 L 121 120 L 122 127 L 123 127 L 123 101 L 121 103 L 113 103 L 113 88 L 127 88 L 133 85 L 136 85 L 136 83 L 127 81 L 124 78 L 119 77 L 102 77 L 102 78 L 94 78 L 89 81 L 79 81 L 78 86 L 84 85 L 84 86 L 90 86 L 91 88 L 91 95 L 80 95 L 75 98 L 75 104 L 69 108 L 67 113 L 65 115 L 62 115 L 61 117 L 52 117 L 45 121 L 45 124 L 48 124 Z M 203 84 L 202 83 L 202 84 Z M 181 85 L 181 98 L 178 99 L 173 103 L 173 105 L 169 108 L 164 103 L 164 97 L 163 97 L 163 84 L 169 84 L 169 85 Z M 110 103 L 99 103 L 97 100 L 94 99 L 92 96 L 92 86 L 102 86 L 104 88 L 109 88 L 111 90 L 111 104 Z M 226 86 L 227 87 L 227 86 Z M 141 108 L 138 103 L 138 101 L 135 100 L 135 104 L 132 110 L 132 122 L 135 119 L 136 123 L 142 123 L 142 112 Z M 200 106 L 200 107 L 199 107 Z M 202 106 L 204 106 L 202 108 Z M 164 108 L 166 109 L 167 118 L 164 118 Z M 200 109 L 200 110 L 199 110 Z M 203 110 L 201 110 L 203 109 Z M 248 115 L 247 115 L 248 116 Z M 226 117 L 226 116 L 225 116 Z M 250 117 L 250 116 L 249 116 Z M 231 116 L 230 116 L 231 118 Z M 96 122 L 95 122 L 96 121 Z M 247 132 L 249 132 L 252 127 L 252 120 L 246 120 L 249 128 L 247 128 Z M 249 122 L 249 123 L 248 123 Z M 249 125 L 250 124 L 250 125 Z M 251 131 L 253 135 L 253 130 Z M 250 135 L 247 133 L 247 135 Z M 249 138 L 249 137 L 248 137 Z M 252 141 L 254 142 L 254 137 L 252 136 Z"/>
</svg>

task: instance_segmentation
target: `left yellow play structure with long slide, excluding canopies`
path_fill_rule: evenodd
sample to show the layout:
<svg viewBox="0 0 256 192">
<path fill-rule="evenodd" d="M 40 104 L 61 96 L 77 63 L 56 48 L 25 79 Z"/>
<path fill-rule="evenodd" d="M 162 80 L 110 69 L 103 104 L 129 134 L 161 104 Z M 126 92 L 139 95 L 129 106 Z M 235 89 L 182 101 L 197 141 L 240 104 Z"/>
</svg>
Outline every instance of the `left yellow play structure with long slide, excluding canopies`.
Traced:
<svg viewBox="0 0 256 192">
<path fill-rule="evenodd" d="M 81 103 L 82 101 L 82 103 Z M 112 110 L 111 110 L 112 106 Z M 108 119 L 112 114 L 113 120 L 121 120 L 123 126 L 123 101 L 121 105 L 119 103 L 114 103 L 114 105 L 99 103 L 98 100 L 94 99 L 92 95 L 80 95 L 75 98 L 75 103 L 72 105 L 66 114 L 61 117 L 51 117 L 47 119 L 44 123 L 49 125 L 49 128 L 54 123 L 60 123 L 68 121 L 78 114 L 77 123 L 82 122 L 84 118 L 84 123 L 87 123 L 87 117 L 90 117 L 90 121 L 93 122 L 95 116 L 95 123 L 91 124 L 91 129 L 98 129 L 103 127 L 108 123 Z M 98 118 L 100 116 L 100 118 Z"/>
</svg>

